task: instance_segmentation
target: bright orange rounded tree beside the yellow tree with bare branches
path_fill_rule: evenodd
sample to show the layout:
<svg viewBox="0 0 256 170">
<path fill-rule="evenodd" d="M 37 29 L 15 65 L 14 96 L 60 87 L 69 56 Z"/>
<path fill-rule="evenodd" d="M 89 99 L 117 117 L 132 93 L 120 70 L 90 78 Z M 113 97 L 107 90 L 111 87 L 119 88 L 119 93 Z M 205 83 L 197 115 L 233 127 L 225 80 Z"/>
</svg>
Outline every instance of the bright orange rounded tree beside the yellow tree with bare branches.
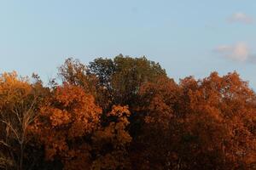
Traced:
<svg viewBox="0 0 256 170">
<path fill-rule="evenodd" d="M 102 114 L 94 98 L 82 88 L 64 83 L 40 112 L 34 129 L 44 144 L 46 158 L 60 156 L 66 169 L 84 169 L 90 163 L 90 146 L 83 141 L 99 126 Z M 73 167 L 78 161 L 83 166 Z"/>
</svg>

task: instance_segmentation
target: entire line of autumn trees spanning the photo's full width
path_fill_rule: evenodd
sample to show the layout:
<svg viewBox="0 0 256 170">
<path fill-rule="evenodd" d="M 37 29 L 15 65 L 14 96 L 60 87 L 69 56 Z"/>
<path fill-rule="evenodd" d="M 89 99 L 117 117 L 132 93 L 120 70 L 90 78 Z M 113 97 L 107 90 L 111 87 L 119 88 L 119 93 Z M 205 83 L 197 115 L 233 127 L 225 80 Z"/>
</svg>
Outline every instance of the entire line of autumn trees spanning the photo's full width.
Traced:
<svg viewBox="0 0 256 170">
<path fill-rule="evenodd" d="M 177 83 L 119 55 L 58 75 L 1 75 L 0 169 L 256 169 L 256 95 L 236 72 Z"/>
</svg>

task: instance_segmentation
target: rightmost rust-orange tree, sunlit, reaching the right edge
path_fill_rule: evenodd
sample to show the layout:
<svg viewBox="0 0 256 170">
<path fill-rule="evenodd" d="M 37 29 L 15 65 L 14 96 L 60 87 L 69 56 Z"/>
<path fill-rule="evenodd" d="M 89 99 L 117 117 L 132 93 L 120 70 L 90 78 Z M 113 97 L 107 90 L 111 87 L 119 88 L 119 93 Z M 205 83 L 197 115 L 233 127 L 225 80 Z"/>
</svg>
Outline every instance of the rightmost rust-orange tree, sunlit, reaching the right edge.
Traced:
<svg viewBox="0 0 256 170">
<path fill-rule="evenodd" d="M 256 118 L 255 94 L 247 82 L 236 72 L 224 77 L 213 72 L 203 80 L 185 79 L 181 85 L 179 112 L 185 116 L 183 147 L 190 150 L 187 163 L 196 162 L 194 168 L 207 165 L 218 169 L 242 169 L 255 163 L 251 122 Z"/>
</svg>

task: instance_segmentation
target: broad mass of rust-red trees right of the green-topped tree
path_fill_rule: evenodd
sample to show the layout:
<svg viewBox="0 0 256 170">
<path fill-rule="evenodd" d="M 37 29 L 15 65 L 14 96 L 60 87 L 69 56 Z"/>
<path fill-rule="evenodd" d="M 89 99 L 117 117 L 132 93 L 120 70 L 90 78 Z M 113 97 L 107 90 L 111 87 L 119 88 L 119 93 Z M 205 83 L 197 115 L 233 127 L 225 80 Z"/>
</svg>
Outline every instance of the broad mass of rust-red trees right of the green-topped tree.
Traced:
<svg viewBox="0 0 256 170">
<path fill-rule="evenodd" d="M 256 160 L 253 90 L 235 73 L 140 88 L 144 115 L 131 160 L 139 169 L 248 169 Z"/>
</svg>

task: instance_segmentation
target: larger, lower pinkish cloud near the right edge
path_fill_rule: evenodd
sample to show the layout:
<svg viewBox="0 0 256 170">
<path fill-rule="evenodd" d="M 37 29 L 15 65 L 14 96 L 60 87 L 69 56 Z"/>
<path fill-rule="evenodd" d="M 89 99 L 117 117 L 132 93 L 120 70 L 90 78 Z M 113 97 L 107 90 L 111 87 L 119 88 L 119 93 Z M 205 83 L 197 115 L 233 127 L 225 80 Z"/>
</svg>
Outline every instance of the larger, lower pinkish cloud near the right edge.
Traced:
<svg viewBox="0 0 256 170">
<path fill-rule="evenodd" d="M 245 42 L 237 42 L 234 45 L 221 45 L 215 48 L 214 51 L 228 59 L 240 62 L 252 62 L 256 57 Z"/>
</svg>

